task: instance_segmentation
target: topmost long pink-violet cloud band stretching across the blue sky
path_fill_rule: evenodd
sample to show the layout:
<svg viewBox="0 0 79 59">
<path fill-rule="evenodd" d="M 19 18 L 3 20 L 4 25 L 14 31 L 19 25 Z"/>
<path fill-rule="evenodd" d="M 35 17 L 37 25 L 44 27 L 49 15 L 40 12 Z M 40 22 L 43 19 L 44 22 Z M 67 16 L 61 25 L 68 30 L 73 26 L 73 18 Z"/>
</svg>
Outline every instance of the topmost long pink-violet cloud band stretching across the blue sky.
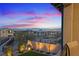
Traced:
<svg viewBox="0 0 79 59">
<path fill-rule="evenodd" d="M 55 13 L 55 14 L 52 14 L 52 13 L 42 13 L 42 14 L 37 14 L 35 12 L 20 12 L 20 13 L 16 13 L 16 12 L 4 12 L 5 16 L 8 16 L 8 17 L 15 17 L 15 16 L 61 16 L 61 13 Z"/>
</svg>

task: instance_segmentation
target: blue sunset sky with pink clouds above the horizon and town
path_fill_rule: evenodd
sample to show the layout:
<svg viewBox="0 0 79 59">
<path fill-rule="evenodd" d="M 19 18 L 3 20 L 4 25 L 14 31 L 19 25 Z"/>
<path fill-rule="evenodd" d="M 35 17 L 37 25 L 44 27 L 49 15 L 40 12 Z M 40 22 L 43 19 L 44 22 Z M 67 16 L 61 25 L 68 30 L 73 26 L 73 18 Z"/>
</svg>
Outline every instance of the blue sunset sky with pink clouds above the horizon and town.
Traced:
<svg viewBox="0 0 79 59">
<path fill-rule="evenodd" d="M 61 20 L 49 3 L 0 4 L 0 28 L 61 28 Z"/>
</svg>

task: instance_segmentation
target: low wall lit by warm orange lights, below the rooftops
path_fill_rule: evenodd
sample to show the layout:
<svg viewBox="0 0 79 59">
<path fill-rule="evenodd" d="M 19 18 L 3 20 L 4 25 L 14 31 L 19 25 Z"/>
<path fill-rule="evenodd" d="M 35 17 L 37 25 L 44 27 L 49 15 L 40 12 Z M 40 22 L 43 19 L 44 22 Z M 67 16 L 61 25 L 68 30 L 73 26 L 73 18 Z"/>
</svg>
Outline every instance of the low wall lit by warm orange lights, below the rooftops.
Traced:
<svg viewBox="0 0 79 59">
<path fill-rule="evenodd" d="M 59 44 L 49 44 L 49 43 L 43 43 L 43 42 L 34 42 L 28 40 L 27 45 L 31 45 L 33 49 L 40 50 L 44 52 L 57 52 L 60 49 Z"/>
</svg>

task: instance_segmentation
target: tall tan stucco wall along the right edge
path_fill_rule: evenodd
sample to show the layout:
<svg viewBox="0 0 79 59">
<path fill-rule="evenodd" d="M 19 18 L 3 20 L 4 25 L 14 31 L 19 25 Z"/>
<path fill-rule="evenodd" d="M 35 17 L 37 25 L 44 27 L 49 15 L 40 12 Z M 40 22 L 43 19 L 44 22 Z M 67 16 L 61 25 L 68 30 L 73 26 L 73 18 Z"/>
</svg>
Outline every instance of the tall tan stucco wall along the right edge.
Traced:
<svg viewBox="0 0 79 59">
<path fill-rule="evenodd" d="M 70 55 L 79 55 L 79 4 L 64 8 L 64 42 L 70 47 Z"/>
</svg>

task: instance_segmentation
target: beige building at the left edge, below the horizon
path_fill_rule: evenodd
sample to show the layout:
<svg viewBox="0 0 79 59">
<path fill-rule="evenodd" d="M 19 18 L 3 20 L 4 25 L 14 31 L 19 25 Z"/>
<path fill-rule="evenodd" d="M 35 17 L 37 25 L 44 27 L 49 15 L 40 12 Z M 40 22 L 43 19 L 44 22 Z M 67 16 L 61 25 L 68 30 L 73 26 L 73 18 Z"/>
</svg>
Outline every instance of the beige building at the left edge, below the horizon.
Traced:
<svg viewBox="0 0 79 59">
<path fill-rule="evenodd" d="M 13 35 L 14 35 L 14 31 L 11 29 L 6 29 L 6 28 L 0 29 L 0 37 L 8 37 Z"/>
</svg>

